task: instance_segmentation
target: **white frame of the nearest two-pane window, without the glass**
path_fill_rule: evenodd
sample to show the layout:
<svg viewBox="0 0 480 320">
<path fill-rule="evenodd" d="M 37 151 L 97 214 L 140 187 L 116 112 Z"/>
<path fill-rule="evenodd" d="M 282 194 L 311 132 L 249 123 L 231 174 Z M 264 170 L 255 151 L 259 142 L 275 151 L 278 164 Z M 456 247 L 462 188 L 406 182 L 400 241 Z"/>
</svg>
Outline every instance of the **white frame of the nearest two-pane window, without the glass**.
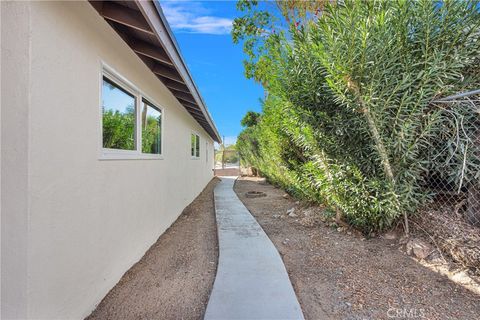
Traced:
<svg viewBox="0 0 480 320">
<path fill-rule="evenodd" d="M 111 149 L 103 147 L 103 78 L 107 78 L 110 82 L 118 86 L 120 89 L 129 93 L 135 98 L 135 149 Z M 161 113 L 161 130 L 160 130 L 160 154 L 143 153 L 142 152 L 142 120 L 141 112 L 143 107 L 143 99 L 148 101 L 154 108 Z M 143 93 L 132 82 L 120 75 L 113 68 L 102 62 L 101 72 L 99 75 L 99 160 L 163 160 L 164 159 L 164 126 L 165 126 L 165 108 L 157 103 L 154 99 Z"/>
</svg>

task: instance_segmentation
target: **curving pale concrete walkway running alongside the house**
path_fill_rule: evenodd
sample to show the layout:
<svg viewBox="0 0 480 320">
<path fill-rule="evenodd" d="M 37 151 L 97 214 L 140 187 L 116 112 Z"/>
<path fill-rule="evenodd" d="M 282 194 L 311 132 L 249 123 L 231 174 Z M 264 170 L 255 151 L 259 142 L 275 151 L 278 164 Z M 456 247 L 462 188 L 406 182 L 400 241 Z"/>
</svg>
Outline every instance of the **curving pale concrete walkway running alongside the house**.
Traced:
<svg viewBox="0 0 480 320">
<path fill-rule="evenodd" d="M 277 249 L 233 191 L 215 187 L 219 261 L 205 319 L 303 319 Z"/>
</svg>

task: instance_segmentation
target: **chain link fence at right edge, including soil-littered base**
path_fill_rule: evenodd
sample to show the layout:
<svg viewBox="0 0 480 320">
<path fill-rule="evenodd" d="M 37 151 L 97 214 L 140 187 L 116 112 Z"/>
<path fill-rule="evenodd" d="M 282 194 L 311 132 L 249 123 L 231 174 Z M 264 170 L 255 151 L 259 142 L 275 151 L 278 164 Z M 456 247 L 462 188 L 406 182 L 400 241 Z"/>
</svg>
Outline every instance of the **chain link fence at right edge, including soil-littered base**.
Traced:
<svg viewBox="0 0 480 320">
<path fill-rule="evenodd" d="M 425 191 L 433 201 L 411 220 L 448 256 L 480 276 L 480 90 L 436 100 L 441 121 L 429 144 Z M 480 278 L 479 278 L 480 279 Z"/>
</svg>

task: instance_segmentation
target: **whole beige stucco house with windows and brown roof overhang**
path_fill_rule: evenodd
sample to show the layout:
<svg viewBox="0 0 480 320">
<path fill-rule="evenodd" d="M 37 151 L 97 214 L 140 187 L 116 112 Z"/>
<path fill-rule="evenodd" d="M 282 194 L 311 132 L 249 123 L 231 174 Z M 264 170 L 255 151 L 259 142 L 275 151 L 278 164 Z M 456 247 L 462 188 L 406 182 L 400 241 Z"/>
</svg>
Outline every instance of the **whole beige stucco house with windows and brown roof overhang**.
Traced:
<svg viewBox="0 0 480 320">
<path fill-rule="evenodd" d="M 215 141 L 158 2 L 2 2 L 2 319 L 87 316 L 212 179 Z"/>
</svg>

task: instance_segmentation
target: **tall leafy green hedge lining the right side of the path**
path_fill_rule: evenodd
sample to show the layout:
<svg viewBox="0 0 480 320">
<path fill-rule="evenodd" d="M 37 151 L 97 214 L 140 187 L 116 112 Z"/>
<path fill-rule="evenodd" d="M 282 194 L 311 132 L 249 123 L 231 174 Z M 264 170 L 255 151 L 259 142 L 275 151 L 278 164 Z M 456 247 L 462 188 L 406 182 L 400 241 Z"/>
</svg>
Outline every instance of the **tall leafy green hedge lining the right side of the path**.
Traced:
<svg viewBox="0 0 480 320">
<path fill-rule="evenodd" d="M 452 152 L 438 143 L 446 124 L 472 116 L 432 100 L 480 87 L 478 4 L 327 2 L 267 35 L 252 28 L 267 25 L 254 5 L 239 6 L 247 15 L 233 35 L 247 45 L 247 75 L 268 95 L 238 138 L 242 159 L 367 233 L 415 212 L 431 196 L 424 185 L 435 159 Z M 477 162 L 466 159 L 471 170 Z M 458 176 L 453 167 L 443 174 Z"/>
</svg>

